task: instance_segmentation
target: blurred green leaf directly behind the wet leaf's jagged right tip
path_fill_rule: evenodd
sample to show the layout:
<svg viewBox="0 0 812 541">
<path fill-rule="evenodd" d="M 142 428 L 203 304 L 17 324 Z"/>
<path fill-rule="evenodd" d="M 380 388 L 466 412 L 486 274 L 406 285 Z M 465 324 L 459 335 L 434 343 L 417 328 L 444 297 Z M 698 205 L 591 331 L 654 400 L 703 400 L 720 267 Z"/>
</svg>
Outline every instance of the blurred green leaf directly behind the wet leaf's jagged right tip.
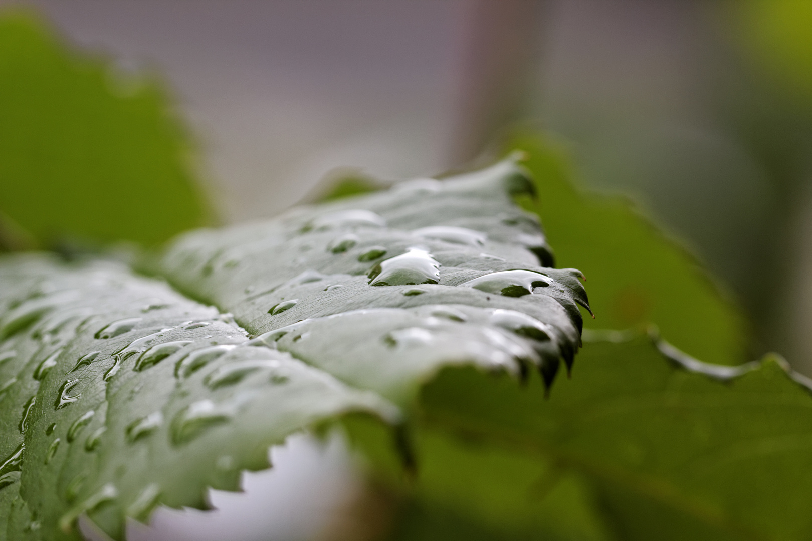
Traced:
<svg viewBox="0 0 812 541">
<path fill-rule="evenodd" d="M 709 363 L 747 359 L 747 326 L 698 261 L 637 213 L 626 200 L 585 193 L 559 146 L 539 135 L 517 135 L 509 148 L 527 152 L 540 196 L 523 207 L 541 216 L 558 263 L 589 278 L 597 308 L 591 328 L 645 327 Z"/>
</svg>

